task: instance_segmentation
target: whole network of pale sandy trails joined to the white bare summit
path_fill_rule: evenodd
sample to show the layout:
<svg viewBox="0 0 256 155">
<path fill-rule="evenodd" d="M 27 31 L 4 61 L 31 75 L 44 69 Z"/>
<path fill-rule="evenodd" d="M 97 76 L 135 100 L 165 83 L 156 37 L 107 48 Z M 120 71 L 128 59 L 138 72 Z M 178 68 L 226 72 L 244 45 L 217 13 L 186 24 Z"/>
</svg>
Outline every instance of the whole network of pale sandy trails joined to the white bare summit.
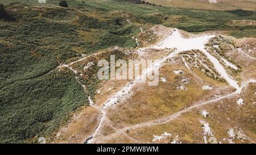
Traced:
<svg viewBox="0 0 256 155">
<path fill-rule="evenodd" d="M 106 102 L 104 104 L 102 104 L 102 106 L 97 106 L 96 104 L 93 103 L 93 101 L 90 99 L 90 97 L 88 97 L 90 106 L 92 106 L 92 107 L 96 108 L 97 110 L 101 111 L 101 116 L 100 116 L 100 119 L 98 120 L 96 129 L 94 130 L 94 132 L 92 133 L 91 136 L 89 136 L 88 138 L 85 139 L 85 143 L 94 143 L 94 142 L 98 142 L 98 141 L 104 141 L 104 140 L 107 140 L 107 139 L 111 139 L 112 137 L 117 136 L 119 134 L 123 134 L 126 137 L 129 137 L 129 139 L 137 141 L 133 137 L 130 137 L 129 135 L 127 135 L 125 133 L 125 131 L 127 131 L 127 129 L 136 129 L 136 128 L 142 128 L 142 127 L 151 126 L 151 125 L 166 124 L 166 123 L 170 122 L 171 120 L 174 120 L 174 119 L 178 118 L 181 114 L 184 114 L 185 112 L 191 111 L 191 110 L 193 110 L 197 107 L 204 106 L 204 105 L 211 104 L 211 103 L 215 103 L 218 100 L 233 97 L 233 95 L 240 94 L 243 87 L 245 87 L 248 83 L 256 82 L 255 79 L 251 79 L 250 81 L 247 81 L 247 82 L 243 83 L 242 86 L 238 86 L 237 81 L 234 81 L 228 75 L 228 73 L 226 73 L 226 70 L 220 64 L 220 62 L 215 57 L 210 55 L 207 52 L 207 50 L 204 49 L 205 48 L 205 46 L 204 46 L 205 43 L 207 43 L 207 41 L 212 37 L 214 37 L 214 35 L 200 35 L 200 36 L 192 37 L 192 38 L 184 38 L 184 37 L 181 36 L 179 30 L 175 29 L 174 31 L 172 31 L 170 36 L 168 36 L 166 39 L 161 41 L 159 44 L 154 45 L 154 46 L 144 47 L 144 48 L 142 48 L 142 50 L 150 49 L 150 48 L 152 48 L 152 49 L 166 49 L 166 48 L 175 49 L 174 52 L 170 53 L 169 55 L 167 55 L 165 57 L 162 57 L 160 60 L 156 61 L 154 63 L 154 65 L 152 65 L 152 67 L 160 67 L 160 65 L 162 65 L 164 61 L 168 60 L 169 58 L 172 58 L 172 57 L 175 57 L 175 56 L 179 55 L 180 52 L 190 51 L 192 49 L 199 49 L 213 63 L 214 68 L 217 70 L 217 72 L 219 72 L 221 74 L 221 76 L 224 79 L 226 79 L 226 81 L 229 83 L 229 85 L 236 88 L 236 91 L 234 93 L 224 95 L 224 96 L 216 98 L 216 99 L 208 100 L 207 102 L 195 103 L 192 106 L 190 106 L 190 107 L 188 107 L 184 110 L 181 110 L 179 112 L 176 112 L 176 113 L 171 114 L 169 116 L 166 116 L 164 118 L 151 120 L 150 122 L 138 123 L 138 124 L 132 125 L 130 127 L 122 128 L 122 129 L 117 129 L 117 128 L 114 128 L 112 126 L 112 128 L 115 130 L 114 133 L 105 137 L 104 139 L 100 139 L 100 138 L 95 139 L 95 137 L 98 135 L 98 133 L 101 130 L 102 124 L 104 124 L 104 122 L 106 122 L 106 121 L 109 121 L 109 119 L 107 118 L 107 111 L 106 111 L 107 108 L 110 107 L 110 106 L 114 106 L 119 99 L 125 100 L 129 96 L 129 94 L 131 92 L 131 89 L 133 89 L 133 87 L 137 83 L 141 82 L 139 79 L 143 79 L 142 77 L 146 76 L 148 72 L 152 72 L 152 68 L 146 68 L 142 71 L 142 74 L 140 75 L 141 78 L 135 78 L 135 80 L 133 82 L 127 83 L 126 86 L 124 86 L 121 90 L 119 90 L 112 97 L 110 97 L 108 100 L 106 100 Z M 135 40 L 138 44 L 138 40 L 137 39 L 135 39 Z M 186 45 L 184 46 L 184 44 L 186 44 Z M 139 46 L 139 44 L 138 44 L 138 46 Z M 98 53 L 96 53 L 94 55 L 97 55 L 97 54 Z M 88 56 L 88 57 L 90 57 L 90 56 Z M 73 65 L 73 64 L 75 64 L 79 61 L 85 60 L 88 57 L 83 57 L 79 60 L 71 62 L 69 65 L 61 65 L 59 67 L 59 68 L 64 67 L 64 68 L 71 69 L 76 75 L 77 82 L 79 82 L 80 85 L 84 88 L 84 91 L 85 91 L 86 94 L 89 94 L 88 90 L 86 89 L 86 86 L 82 85 L 82 83 L 79 81 L 79 79 L 77 77 L 77 71 L 75 69 L 73 69 L 71 67 L 71 65 Z"/>
</svg>

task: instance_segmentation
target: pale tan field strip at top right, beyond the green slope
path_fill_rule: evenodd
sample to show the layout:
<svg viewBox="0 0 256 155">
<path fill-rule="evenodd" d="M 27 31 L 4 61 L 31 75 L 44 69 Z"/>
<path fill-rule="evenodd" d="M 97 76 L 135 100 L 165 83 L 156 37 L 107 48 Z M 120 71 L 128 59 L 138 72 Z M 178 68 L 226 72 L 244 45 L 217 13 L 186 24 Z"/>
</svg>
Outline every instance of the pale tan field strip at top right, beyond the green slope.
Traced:
<svg viewBox="0 0 256 155">
<path fill-rule="evenodd" d="M 212 3 L 210 3 L 210 2 Z M 156 5 L 204 10 L 256 10 L 255 0 L 147 0 Z"/>
</svg>

